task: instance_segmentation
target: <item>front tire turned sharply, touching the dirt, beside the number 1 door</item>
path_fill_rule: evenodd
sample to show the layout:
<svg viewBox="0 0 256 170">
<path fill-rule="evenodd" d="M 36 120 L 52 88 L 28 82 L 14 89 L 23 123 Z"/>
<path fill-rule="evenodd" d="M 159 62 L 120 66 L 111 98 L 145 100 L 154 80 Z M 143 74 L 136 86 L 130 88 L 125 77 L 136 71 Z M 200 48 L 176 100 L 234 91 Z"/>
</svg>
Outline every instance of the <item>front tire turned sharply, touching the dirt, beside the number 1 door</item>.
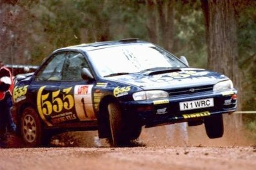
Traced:
<svg viewBox="0 0 256 170">
<path fill-rule="evenodd" d="M 108 104 L 108 117 L 110 123 L 110 143 L 112 146 L 119 146 L 122 144 L 122 110 L 117 103 Z"/>
</svg>

